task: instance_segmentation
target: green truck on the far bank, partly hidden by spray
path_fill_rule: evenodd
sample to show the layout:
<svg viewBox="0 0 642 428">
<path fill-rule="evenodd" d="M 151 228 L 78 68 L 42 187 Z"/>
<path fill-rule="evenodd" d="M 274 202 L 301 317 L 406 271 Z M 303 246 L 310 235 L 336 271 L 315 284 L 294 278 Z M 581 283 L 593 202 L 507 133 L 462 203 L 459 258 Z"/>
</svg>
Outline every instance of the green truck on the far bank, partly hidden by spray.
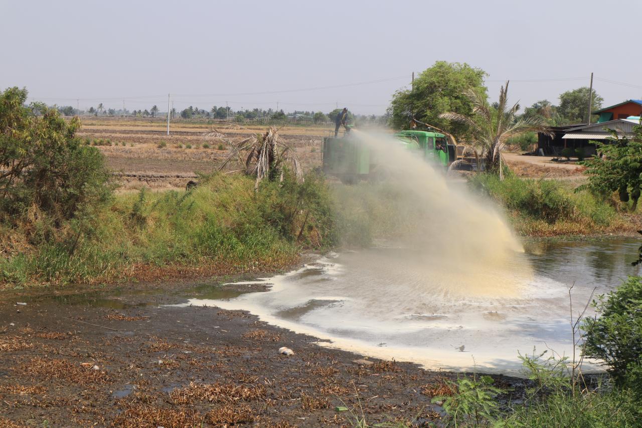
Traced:
<svg viewBox="0 0 642 428">
<path fill-rule="evenodd" d="M 417 156 L 444 168 L 464 159 L 464 146 L 456 145 L 455 139 L 446 133 L 413 129 L 397 132 L 394 137 Z M 469 163 L 458 165 L 472 169 Z M 354 132 L 346 132 L 340 138 L 324 138 L 323 171 L 346 184 L 361 180 L 380 181 L 388 175 L 385 159 L 377 159 L 367 143 Z"/>
</svg>

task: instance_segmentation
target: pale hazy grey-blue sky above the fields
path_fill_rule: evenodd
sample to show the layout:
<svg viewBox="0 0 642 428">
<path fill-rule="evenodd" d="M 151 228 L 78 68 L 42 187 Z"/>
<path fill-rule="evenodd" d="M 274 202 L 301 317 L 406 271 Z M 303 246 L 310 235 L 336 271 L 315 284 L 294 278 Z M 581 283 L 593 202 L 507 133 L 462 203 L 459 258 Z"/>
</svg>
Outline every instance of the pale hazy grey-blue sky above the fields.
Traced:
<svg viewBox="0 0 642 428">
<path fill-rule="evenodd" d="M 383 114 L 446 60 L 486 71 L 492 99 L 510 79 L 523 106 L 593 72 L 607 106 L 642 98 L 641 15 L 639 0 L 0 0 L 0 89 L 80 109 L 167 111 L 171 94 L 178 110 Z"/>
</svg>

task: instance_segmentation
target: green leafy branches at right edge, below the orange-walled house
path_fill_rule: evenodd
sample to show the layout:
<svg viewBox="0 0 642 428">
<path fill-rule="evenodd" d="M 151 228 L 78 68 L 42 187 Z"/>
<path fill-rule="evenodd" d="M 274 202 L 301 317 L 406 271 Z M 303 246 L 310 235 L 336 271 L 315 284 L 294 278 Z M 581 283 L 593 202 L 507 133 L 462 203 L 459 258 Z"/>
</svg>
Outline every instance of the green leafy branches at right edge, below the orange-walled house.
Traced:
<svg viewBox="0 0 642 428">
<path fill-rule="evenodd" d="M 595 193 L 620 194 L 620 201 L 631 200 L 630 210 L 636 210 L 642 190 L 642 126 L 634 127 L 632 138 L 618 138 L 612 130 L 607 143 L 595 141 L 596 150 L 603 156 L 594 156 L 584 161 L 588 188 Z"/>
</svg>

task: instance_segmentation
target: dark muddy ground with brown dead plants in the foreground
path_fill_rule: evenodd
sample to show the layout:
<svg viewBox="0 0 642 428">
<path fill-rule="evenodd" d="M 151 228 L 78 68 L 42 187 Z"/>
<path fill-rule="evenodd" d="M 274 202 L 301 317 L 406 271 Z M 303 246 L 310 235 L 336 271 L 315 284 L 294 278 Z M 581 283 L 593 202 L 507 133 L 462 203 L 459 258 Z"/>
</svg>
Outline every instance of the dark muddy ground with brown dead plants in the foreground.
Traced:
<svg viewBox="0 0 642 428">
<path fill-rule="evenodd" d="M 363 416 L 440 425 L 431 398 L 451 393 L 445 380 L 453 373 L 358 362 L 364 357 L 247 312 L 166 306 L 187 296 L 231 298 L 247 287 L 205 281 L 5 295 L 0 426 L 351 427 Z M 294 355 L 279 354 L 281 346 Z"/>
</svg>

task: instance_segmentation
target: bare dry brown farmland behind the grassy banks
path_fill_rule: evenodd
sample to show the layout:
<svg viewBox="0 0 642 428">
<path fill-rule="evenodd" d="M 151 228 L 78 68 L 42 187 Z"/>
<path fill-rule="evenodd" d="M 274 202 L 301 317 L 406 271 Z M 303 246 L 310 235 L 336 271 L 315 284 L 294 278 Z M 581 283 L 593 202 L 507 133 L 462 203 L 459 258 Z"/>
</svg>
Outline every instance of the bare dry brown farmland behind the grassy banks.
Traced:
<svg viewBox="0 0 642 428">
<path fill-rule="evenodd" d="M 204 136 L 213 130 L 212 125 L 204 123 L 174 124 L 168 136 L 163 121 L 85 118 L 78 135 L 89 139 L 92 144 L 94 141 L 103 144 L 98 147 L 121 184 L 121 192 L 142 187 L 163 190 L 184 188 L 187 181 L 195 179 L 195 172 L 213 172 L 225 159 L 230 140 L 239 141 L 266 129 L 258 126 L 248 129 L 224 124 L 217 126 L 216 130 L 225 138 Z M 279 129 L 279 135 L 295 148 L 306 170 L 321 166 L 323 138 L 331 132 L 333 129 L 327 127 Z M 520 177 L 582 177 L 583 168 L 577 165 L 551 163 L 544 157 L 513 153 L 505 153 L 504 156 Z M 236 168 L 238 165 L 230 165 L 227 169 Z"/>
</svg>

